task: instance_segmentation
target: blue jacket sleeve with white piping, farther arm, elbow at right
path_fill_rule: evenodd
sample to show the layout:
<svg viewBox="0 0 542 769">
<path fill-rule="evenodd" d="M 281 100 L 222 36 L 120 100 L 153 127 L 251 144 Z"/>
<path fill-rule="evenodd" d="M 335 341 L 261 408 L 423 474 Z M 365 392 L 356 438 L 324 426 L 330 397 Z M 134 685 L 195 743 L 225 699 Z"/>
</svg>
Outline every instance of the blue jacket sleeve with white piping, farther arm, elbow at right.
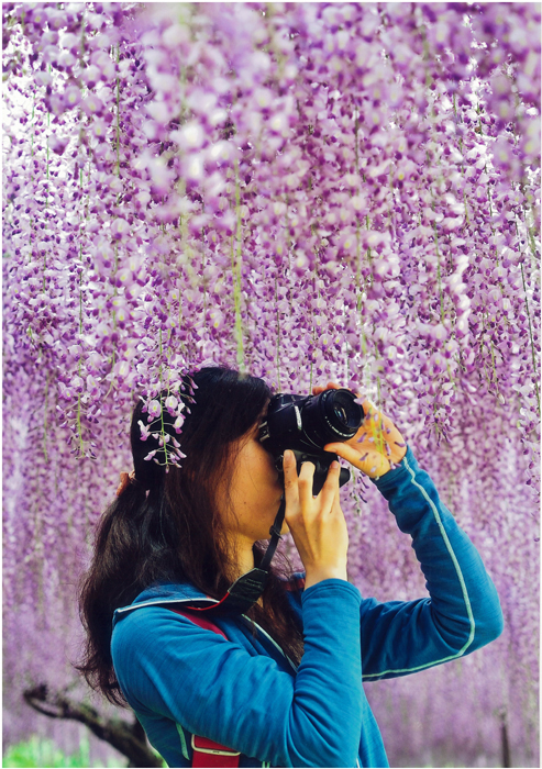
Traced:
<svg viewBox="0 0 542 769">
<path fill-rule="evenodd" d="M 364 680 L 423 670 L 497 638 L 504 620 L 495 586 L 410 447 L 395 470 L 373 482 L 401 532 L 412 537 L 429 598 L 362 601 Z"/>
</svg>

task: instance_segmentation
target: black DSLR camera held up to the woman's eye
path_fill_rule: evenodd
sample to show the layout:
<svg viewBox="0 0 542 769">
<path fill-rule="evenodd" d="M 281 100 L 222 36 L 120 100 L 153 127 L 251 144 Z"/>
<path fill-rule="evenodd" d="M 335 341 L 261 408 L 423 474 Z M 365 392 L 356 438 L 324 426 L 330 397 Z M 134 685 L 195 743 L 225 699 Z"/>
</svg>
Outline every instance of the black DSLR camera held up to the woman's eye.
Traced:
<svg viewBox="0 0 542 769">
<path fill-rule="evenodd" d="M 319 395 L 290 395 L 279 392 L 267 409 L 259 425 L 259 441 L 284 473 L 283 458 L 287 448 L 296 456 L 297 471 L 303 461 L 313 462 L 312 493 L 318 494 L 336 454 L 324 452 L 328 443 L 352 438 L 364 420 L 364 411 L 355 403 L 357 395 L 350 390 L 324 390 Z M 339 484 L 350 480 L 350 470 L 342 467 Z"/>
</svg>

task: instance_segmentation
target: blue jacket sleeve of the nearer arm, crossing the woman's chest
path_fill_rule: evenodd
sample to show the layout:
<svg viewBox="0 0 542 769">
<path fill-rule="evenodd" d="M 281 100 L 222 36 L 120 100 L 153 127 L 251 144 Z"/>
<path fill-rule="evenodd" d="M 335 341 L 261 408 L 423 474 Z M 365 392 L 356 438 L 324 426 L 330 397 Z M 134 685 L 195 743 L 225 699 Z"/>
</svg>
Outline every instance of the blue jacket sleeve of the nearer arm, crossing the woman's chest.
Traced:
<svg viewBox="0 0 542 769">
<path fill-rule="evenodd" d="M 173 718 L 270 766 L 355 767 L 361 600 L 340 579 L 302 593 L 305 654 L 296 676 L 167 609 L 140 609 L 114 627 L 115 673 L 134 710 Z"/>
</svg>

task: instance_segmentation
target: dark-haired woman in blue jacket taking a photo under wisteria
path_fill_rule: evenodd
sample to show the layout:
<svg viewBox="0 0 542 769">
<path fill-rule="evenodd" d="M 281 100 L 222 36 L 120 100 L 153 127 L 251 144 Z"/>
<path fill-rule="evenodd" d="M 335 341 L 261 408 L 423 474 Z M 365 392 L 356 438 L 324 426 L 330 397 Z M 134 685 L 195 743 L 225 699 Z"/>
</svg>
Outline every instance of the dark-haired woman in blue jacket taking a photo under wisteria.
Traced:
<svg viewBox="0 0 542 769">
<path fill-rule="evenodd" d="M 455 659 L 501 633 L 499 600 L 476 549 L 397 427 L 365 401 L 370 413 L 358 434 L 325 448 L 384 494 L 412 536 L 430 597 L 362 599 L 347 581 L 338 464 L 314 498 L 314 466 L 305 462 L 298 476 L 285 452 L 283 488 L 258 442 L 272 397 L 265 382 L 203 368 L 193 383 L 196 402 L 181 393 L 180 436 L 162 410 L 186 455 L 180 468 L 145 461 L 145 415 L 141 403 L 134 410 L 134 477 L 126 482 L 123 473 L 81 589 L 80 670 L 135 711 L 170 767 L 388 766 L 363 681 Z M 384 423 L 384 443 L 368 430 L 374 419 Z M 283 491 L 281 531 L 291 532 L 305 572 L 284 572 L 275 558 L 257 603 L 245 614 L 209 613 L 206 624 L 206 610 L 262 561 Z M 223 748 L 218 757 L 204 753 L 213 743 Z"/>
</svg>

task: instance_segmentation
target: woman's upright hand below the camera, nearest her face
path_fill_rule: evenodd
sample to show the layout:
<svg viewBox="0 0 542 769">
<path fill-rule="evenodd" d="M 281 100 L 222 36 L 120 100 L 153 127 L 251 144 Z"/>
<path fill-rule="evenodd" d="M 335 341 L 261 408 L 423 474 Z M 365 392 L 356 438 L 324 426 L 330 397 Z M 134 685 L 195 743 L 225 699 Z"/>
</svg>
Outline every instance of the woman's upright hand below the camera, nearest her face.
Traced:
<svg viewBox="0 0 542 769">
<path fill-rule="evenodd" d="M 312 462 L 303 462 L 298 476 L 294 453 L 286 450 L 283 467 L 285 521 L 306 569 L 305 588 L 323 579 L 346 580 L 349 530 L 339 499 L 339 462 L 332 462 L 318 497 L 312 497 Z"/>
</svg>

